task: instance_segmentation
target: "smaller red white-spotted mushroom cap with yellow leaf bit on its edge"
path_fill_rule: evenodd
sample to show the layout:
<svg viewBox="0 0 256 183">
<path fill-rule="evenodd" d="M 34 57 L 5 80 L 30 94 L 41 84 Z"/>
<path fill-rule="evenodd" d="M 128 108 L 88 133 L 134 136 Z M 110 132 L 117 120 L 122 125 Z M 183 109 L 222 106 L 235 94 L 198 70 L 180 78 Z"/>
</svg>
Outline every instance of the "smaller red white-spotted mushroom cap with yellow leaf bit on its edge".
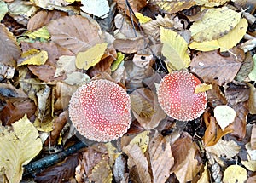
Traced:
<svg viewBox="0 0 256 183">
<path fill-rule="evenodd" d="M 207 106 L 207 94 L 195 94 L 201 81 L 187 71 L 174 71 L 160 82 L 158 100 L 166 114 L 180 121 L 200 117 Z"/>
</svg>

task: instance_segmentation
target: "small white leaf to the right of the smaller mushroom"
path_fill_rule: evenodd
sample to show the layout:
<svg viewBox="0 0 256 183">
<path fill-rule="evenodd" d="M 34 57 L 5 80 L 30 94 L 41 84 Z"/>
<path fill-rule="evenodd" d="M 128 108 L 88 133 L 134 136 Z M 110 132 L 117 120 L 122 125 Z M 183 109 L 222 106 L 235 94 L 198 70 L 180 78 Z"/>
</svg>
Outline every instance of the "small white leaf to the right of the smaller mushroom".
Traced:
<svg viewBox="0 0 256 183">
<path fill-rule="evenodd" d="M 236 117 L 236 111 L 230 106 L 216 106 L 214 108 L 214 117 L 218 125 L 224 130 L 230 123 L 233 123 Z"/>
</svg>

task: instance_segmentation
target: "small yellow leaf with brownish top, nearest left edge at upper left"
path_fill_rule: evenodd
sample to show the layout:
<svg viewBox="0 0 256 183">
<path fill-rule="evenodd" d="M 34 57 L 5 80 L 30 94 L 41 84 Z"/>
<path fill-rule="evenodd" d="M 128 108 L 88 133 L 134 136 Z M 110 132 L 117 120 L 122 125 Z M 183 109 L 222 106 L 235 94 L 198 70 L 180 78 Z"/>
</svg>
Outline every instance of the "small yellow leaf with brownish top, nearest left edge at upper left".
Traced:
<svg viewBox="0 0 256 183">
<path fill-rule="evenodd" d="M 46 60 L 48 60 L 47 51 L 38 49 L 29 49 L 25 53 L 21 54 L 21 58 L 18 60 L 20 64 L 18 66 L 23 65 L 43 65 Z"/>
</svg>

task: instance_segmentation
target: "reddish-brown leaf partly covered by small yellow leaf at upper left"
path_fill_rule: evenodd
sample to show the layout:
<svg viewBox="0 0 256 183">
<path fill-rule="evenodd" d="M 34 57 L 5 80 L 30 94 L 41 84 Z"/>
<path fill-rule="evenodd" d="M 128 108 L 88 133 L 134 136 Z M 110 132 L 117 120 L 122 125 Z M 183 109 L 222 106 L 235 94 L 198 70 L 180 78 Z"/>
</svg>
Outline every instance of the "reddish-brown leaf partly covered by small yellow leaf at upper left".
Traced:
<svg viewBox="0 0 256 183">
<path fill-rule="evenodd" d="M 23 51 L 28 49 L 44 49 L 48 53 L 48 60 L 42 66 L 28 66 L 32 73 L 38 76 L 39 79 L 44 82 L 51 82 L 55 80 L 63 80 L 66 75 L 55 77 L 55 71 L 57 67 L 57 60 L 62 55 L 73 56 L 74 54 L 68 49 L 63 49 L 55 43 L 21 43 Z"/>
</svg>

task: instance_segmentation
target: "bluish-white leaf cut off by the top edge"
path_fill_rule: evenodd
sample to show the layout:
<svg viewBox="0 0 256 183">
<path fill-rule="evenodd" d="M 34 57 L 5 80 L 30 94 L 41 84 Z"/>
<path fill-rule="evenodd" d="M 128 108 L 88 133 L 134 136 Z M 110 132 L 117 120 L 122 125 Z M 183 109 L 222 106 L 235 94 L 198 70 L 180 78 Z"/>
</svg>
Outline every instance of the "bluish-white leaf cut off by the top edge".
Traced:
<svg viewBox="0 0 256 183">
<path fill-rule="evenodd" d="M 108 17 L 109 5 L 107 0 L 81 0 L 82 9 L 87 14 L 93 14 L 102 19 Z"/>
</svg>

